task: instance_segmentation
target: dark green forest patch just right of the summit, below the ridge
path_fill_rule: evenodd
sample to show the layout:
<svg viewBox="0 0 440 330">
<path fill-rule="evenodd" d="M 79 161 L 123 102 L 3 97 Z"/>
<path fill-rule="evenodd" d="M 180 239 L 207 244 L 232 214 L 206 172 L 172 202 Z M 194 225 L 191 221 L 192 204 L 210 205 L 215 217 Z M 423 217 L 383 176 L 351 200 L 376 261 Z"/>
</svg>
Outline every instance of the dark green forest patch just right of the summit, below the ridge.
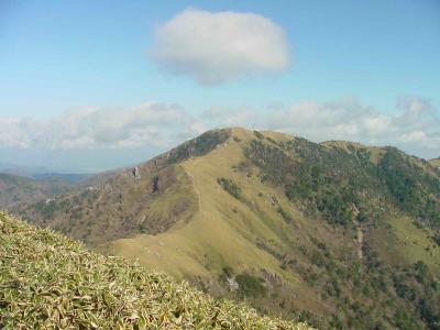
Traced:
<svg viewBox="0 0 440 330">
<path fill-rule="evenodd" d="M 352 155 L 302 139 L 280 146 L 254 140 L 245 155 L 263 170 L 263 180 L 284 186 L 290 200 L 306 204 L 310 215 L 318 211 L 334 224 L 352 221 L 353 205 L 360 205 L 356 191 L 373 194 L 376 187 L 366 152 Z"/>
</svg>

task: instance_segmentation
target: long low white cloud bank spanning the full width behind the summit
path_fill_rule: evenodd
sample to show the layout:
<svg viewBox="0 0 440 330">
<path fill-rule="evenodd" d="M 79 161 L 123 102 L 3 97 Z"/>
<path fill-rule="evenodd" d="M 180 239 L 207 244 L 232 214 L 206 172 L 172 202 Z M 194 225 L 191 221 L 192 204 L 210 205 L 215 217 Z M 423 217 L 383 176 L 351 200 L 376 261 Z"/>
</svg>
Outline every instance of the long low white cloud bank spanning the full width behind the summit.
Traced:
<svg viewBox="0 0 440 330">
<path fill-rule="evenodd" d="M 354 98 L 267 109 L 211 107 L 200 116 L 155 102 L 120 109 L 81 108 L 45 121 L 0 118 L 0 147 L 165 150 L 216 127 L 274 130 L 316 142 L 396 145 L 421 157 L 440 156 L 440 117 L 432 105 L 417 97 L 398 99 L 393 113 L 380 112 Z"/>
</svg>

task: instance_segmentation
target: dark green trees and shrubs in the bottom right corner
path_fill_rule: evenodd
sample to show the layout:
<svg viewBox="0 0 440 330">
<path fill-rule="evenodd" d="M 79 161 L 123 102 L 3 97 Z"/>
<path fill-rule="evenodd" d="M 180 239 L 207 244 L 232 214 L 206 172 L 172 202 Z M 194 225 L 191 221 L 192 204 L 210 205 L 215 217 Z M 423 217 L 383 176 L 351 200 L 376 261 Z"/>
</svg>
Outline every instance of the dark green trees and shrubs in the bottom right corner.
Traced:
<svg viewBox="0 0 440 330">
<path fill-rule="evenodd" d="M 321 327 L 438 329 L 440 283 L 425 263 L 391 266 L 371 245 L 364 248 L 362 265 L 355 258 L 341 261 L 337 251 L 320 242 L 316 250 L 304 253 L 306 258 L 286 261 L 287 268 L 299 273 L 324 301 L 340 310 Z M 312 322 L 314 318 L 309 316 L 308 320 Z"/>
</svg>

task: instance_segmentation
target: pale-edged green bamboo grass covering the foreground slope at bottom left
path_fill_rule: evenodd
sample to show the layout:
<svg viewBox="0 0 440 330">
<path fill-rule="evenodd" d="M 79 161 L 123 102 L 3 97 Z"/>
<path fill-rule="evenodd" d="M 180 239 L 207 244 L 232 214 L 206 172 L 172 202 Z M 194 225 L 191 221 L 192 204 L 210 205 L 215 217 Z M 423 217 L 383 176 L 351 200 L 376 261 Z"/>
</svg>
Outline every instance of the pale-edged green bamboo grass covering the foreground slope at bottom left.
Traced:
<svg viewBox="0 0 440 330">
<path fill-rule="evenodd" d="M 0 329 L 309 329 L 0 212 Z"/>
</svg>

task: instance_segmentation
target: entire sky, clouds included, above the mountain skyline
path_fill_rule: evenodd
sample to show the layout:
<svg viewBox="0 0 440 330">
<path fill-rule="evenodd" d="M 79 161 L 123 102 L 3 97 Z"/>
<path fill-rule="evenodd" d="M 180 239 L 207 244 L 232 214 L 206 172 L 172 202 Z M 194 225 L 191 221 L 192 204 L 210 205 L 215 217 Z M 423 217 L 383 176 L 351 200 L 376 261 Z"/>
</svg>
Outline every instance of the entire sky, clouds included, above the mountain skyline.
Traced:
<svg viewBox="0 0 440 330">
<path fill-rule="evenodd" d="M 0 163 L 97 172 L 240 125 L 440 156 L 440 2 L 0 0 Z"/>
</svg>

